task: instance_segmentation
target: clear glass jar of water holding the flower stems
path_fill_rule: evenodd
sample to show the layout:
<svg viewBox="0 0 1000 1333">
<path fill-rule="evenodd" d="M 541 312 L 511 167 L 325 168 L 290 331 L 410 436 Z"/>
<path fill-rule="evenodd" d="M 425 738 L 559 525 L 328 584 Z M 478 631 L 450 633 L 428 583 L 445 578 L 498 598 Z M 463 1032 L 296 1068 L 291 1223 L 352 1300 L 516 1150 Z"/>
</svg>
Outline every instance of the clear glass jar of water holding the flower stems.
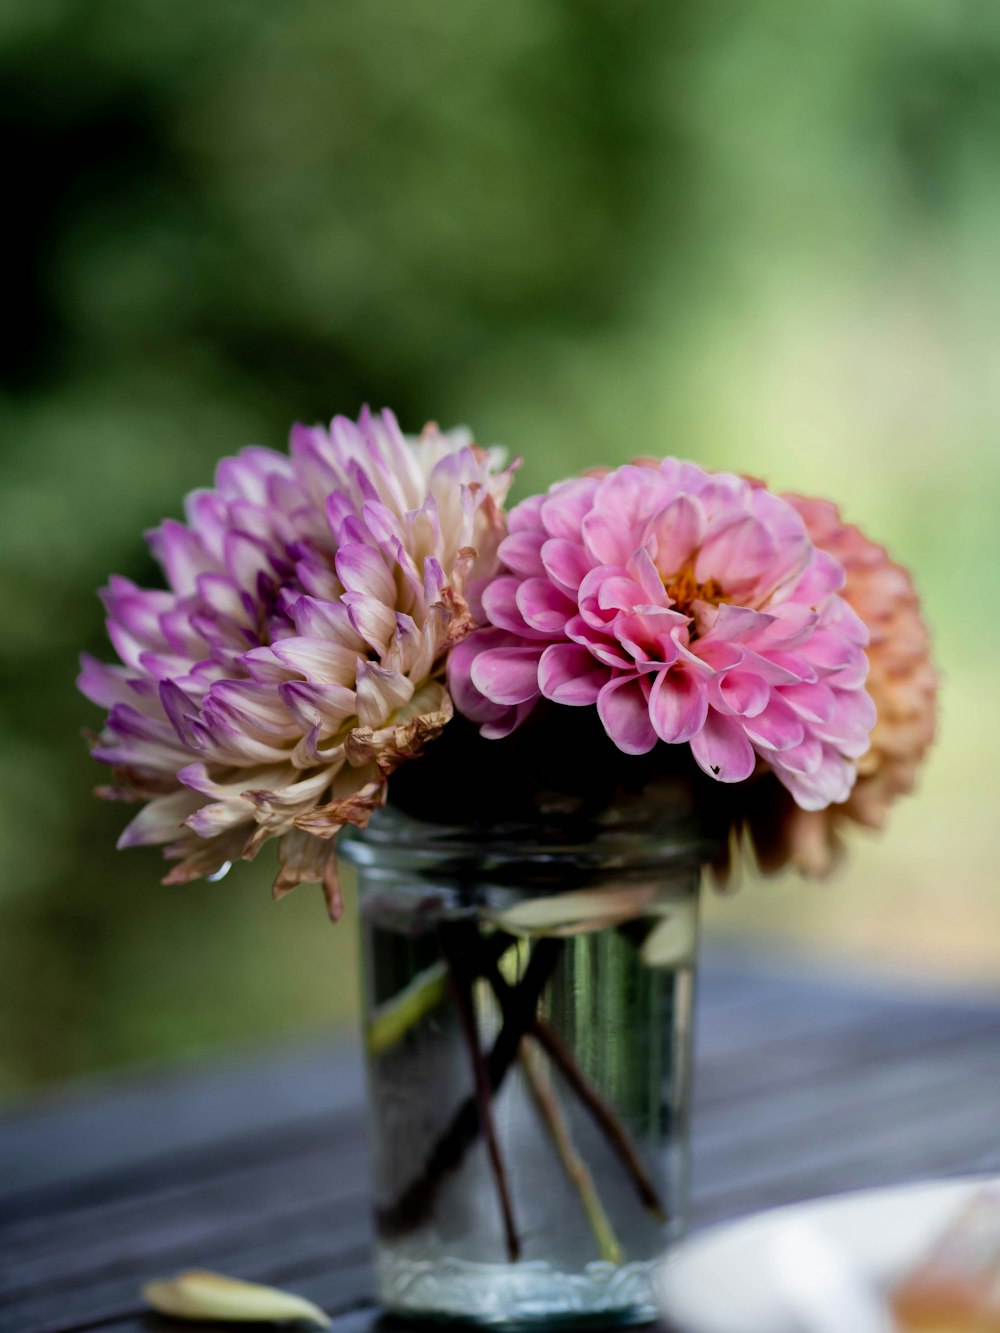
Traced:
<svg viewBox="0 0 1000 1333">
<path fill-rule="evenodd" d="M 492 1325 L 649 1320 L 684 1230 L 704 846 L 384 810 L 359 870 L 377 1297 Z"/>
</svg>

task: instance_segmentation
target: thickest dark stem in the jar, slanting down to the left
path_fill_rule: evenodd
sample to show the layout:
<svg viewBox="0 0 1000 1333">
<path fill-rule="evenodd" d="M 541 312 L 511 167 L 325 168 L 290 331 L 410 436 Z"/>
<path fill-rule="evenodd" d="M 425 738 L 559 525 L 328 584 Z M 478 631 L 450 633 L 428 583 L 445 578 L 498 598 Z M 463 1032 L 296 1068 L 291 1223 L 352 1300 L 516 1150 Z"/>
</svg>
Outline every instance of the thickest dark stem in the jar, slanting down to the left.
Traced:
<svg viewBox="0 0 1000 1333">
<path fill-rule="evenodd" d="M 497 1033 L 485 1062 L 489 1090 L 493 1094 L 496 1094 L 517 1054 L 521 1037 L 531 1030 L 535 1022 L 539 1000 L 559 961 L 561 948 L 561 940 L 539 940 L 528 960 L 524 980 L 520 985 L 508 988 L 509 1002 L 504 1008 L 504 1025 Z M 469 958 L 469 966 L 477 969 L 480 958 Z M 460 1165 L 465 1152 L 476 1141 L 480 1128 L 476 1097 L 467 1097 L 431 1149 L 416 1180 L 403 1190 L 393 1204 L 377 1209 L 376 1224 L 381 1236 L 401 1236 L 420 1225 L 433 1208 L 437 1192 L 445 1178 Z"/>
</svg>

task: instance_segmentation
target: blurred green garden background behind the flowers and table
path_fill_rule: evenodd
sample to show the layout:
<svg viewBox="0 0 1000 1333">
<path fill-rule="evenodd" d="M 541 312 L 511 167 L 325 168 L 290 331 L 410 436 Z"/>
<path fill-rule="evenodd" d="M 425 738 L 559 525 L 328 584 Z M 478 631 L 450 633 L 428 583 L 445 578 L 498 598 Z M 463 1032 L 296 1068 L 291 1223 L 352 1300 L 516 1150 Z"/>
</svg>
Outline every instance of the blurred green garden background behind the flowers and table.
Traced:
<svg viewBox="0 0 1000 1333">
<path fill-rule="evenodd" d="M 837 499 L 944 673 L 920 796 L 716 933 L 1000 980 L 1000 8 L 7 0 L 0 1096 L 347 1021 L 269 856 L 165 889 L 91 796 L 95 589 L 244 443 L 388 404 L 519 493 L 679 453 Z"/>
</svg>

